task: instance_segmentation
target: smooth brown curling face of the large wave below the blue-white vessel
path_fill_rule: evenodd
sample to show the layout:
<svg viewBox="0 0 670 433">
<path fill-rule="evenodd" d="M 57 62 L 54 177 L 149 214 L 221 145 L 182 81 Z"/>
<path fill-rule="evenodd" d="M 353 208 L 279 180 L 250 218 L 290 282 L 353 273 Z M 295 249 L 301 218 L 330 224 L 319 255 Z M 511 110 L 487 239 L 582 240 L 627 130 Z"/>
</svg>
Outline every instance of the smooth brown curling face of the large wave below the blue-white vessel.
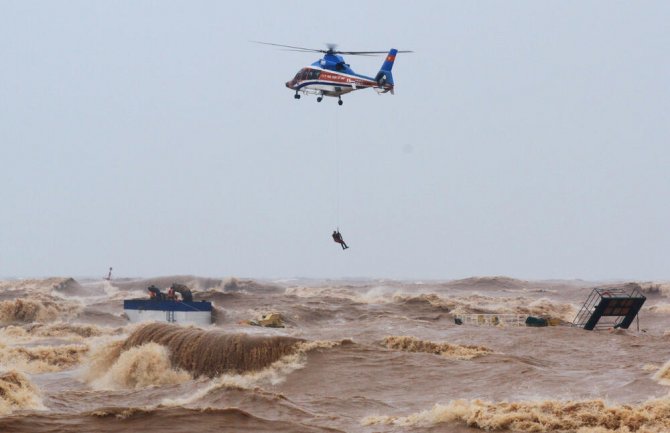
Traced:
<svg viewBox="0 0 670 433">
<path fill-rule="evenodd" d="M 302 340 L 283 336 L 255 336 L 203 331 L 199 328 L 152 323 L 137 328 L 123 350 L 145 343 L 169 349 L 172 365 L 194 376 L 215 377 L 222 373 L 260 370 L 296 351 Z"/>
</svg>

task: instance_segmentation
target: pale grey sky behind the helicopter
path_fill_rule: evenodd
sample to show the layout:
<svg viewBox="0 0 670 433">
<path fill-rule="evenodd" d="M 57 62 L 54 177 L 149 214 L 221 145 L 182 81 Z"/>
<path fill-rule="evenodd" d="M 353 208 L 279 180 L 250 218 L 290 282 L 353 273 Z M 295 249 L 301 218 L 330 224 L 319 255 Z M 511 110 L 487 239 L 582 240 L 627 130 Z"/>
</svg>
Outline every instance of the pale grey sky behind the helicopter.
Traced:
<svg viewBox="0 0 670 433">
<path fill-rule="evenodd" d="M 668 278 L 669 22 L 664 1 L 0 1 L 0 275 Z M 395 96 L 338 107 L 284 87 L 318 55 L 249 40 L 416 53 Z"/>
</svg>

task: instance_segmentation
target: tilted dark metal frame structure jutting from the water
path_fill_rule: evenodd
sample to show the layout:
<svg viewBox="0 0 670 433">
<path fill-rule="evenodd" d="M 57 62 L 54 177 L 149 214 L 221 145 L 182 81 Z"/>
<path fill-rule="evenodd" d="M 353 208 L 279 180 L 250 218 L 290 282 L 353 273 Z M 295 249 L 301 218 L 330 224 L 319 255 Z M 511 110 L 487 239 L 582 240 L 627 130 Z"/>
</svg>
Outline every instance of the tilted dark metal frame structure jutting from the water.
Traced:
<svg viewBox="0 0 670 433">
<path fill-rule="evenodd" d="M 588 331 L 594 328 L 628 329 L 646 300 L 638 287 L 595 288 L 575 316 L 572 326 Z"/>
</svg>

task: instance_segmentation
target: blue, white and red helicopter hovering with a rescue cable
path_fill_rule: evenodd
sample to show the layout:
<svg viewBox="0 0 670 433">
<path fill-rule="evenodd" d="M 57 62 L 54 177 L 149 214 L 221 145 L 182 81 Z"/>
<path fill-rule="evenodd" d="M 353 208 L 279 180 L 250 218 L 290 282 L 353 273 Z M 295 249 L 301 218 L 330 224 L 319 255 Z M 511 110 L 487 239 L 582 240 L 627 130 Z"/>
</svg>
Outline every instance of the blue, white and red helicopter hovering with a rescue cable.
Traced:
<svg viewBox="0 0 670 433">
<path fill-rule="evenodd" d="M 291 45 L 273 44 L 270 42 L 252 41 L 257 44 L 273 45 L 276 47 L 287 48 L 288 51 L 299 52 L 316 52 L 323 53 L 322 59 L 317 60 L 310 66 L 306 66 L 298 71 L 292 80 L 286 82 L 286 87 L 295 91 L 293 96 L 295 99 L 300 99 L 300 94 L 314 94 L 316 95 L 316 102 L 321 102 L 324 96 L 331 96 L 337 98 L 337 103 L 342 105 L 342 95 L 353 92 L 354 90 L 361 90 L 373 88 L 377 93 L 391 92 L 393 95 L 393 75 L 391 69 L 398 53 L 412 53 L 413 51 L 402 51 L 392 48 L 388 51 L 337 51 L 335 44 L 327 44 L 327 50 L 319 50 L 314 48 L 294 47 Z M 386 54 L 386 59 L 382 67 L 377 72 L 377 75 L 368 77 L 365 75 L 355 73 L 349 64 L 344 62 L 341 56 L 375 56 Z"/>
</svg>

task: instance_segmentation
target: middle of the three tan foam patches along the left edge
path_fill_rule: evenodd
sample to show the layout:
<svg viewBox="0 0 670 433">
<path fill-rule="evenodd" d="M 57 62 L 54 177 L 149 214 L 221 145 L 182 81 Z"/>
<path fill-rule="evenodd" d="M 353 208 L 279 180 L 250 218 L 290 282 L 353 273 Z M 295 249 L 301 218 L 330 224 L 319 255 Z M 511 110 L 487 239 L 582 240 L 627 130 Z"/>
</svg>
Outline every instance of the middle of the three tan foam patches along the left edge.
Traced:
<svg viewBox="0 0 670 433">
<path fill-rule="evenodd" d="M 81 344 L 12 347 L 0 343 L 0 363 L 26 373 L 46 373 L 74 367 L 86 352 L 88 346 Z"/>
</svg>

